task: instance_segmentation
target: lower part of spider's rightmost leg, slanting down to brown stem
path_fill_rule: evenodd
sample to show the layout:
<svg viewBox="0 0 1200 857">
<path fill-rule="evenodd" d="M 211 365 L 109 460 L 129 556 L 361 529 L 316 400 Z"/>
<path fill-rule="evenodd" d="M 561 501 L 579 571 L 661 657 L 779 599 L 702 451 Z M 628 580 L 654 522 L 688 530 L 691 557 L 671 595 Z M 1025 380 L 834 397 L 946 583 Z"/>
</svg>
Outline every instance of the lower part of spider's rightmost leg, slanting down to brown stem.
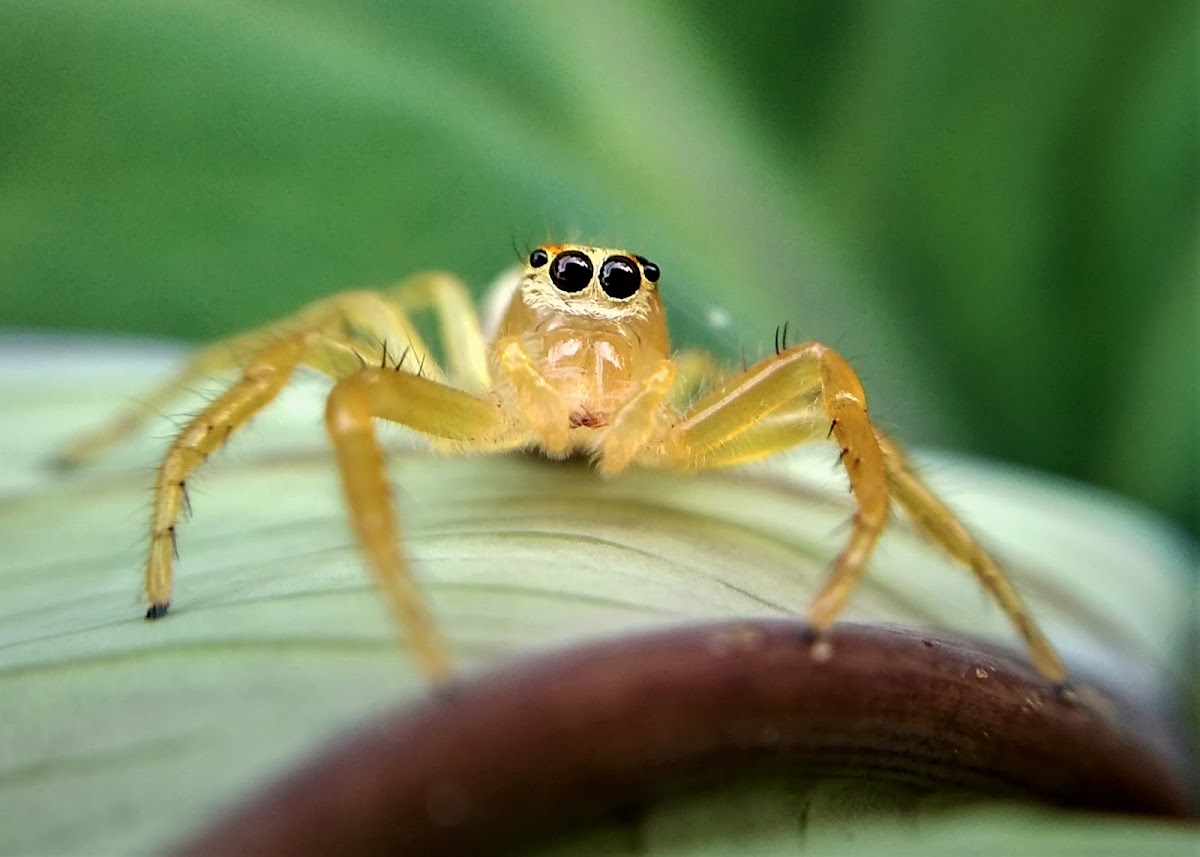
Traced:
<svg viewBox="0 0 1200 857">
<path fill-rule="evenodd" d="M 917 477 L 900 449 L 882 432 L 876 432 L 888 473 L 892 496 L 905 510 L 918 531 L 960 563 L 971 569 L 1008 616 L 1018 634 L 1025 640 L 1038 672 L 1056 685 L 1067 683 L 1067 669 L 1054 646 L 1033 622 L 1025 601 L 992 562 L 991 557 L 971 537 L 966 527 L 954 516 L 937 496 Z"/>
</svg>

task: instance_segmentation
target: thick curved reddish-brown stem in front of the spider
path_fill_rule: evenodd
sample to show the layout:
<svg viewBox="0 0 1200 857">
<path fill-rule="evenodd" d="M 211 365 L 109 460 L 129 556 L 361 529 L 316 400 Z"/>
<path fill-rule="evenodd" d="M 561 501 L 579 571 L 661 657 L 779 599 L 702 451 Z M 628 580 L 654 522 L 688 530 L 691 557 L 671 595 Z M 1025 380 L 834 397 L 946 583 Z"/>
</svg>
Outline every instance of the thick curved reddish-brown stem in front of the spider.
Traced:
<svg viewBox="0 0 1200 857">
<path fill-rule="evenodd" d="M 500 853 L 758 775 L 1193 815 L 1163 721 L 1080 690 L 1074 705 L 1009 654 L 877 627 L 816 648 L 784 621 L 628 636 L 364 726 L 176 853 Z"/>
</svg>

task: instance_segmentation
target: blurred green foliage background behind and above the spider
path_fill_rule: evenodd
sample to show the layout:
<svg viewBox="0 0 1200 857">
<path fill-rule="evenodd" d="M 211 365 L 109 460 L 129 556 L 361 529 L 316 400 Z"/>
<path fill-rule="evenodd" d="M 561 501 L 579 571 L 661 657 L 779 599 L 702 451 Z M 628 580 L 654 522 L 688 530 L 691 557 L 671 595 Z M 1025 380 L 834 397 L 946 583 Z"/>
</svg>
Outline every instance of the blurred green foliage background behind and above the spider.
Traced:
<svg viewBox="0 0 1200 857">
<path fill-rule="evenodd" d="M 787 320 L 910 443 L 1198 532 L 1196 8 L 0 0 L 0 325 L 205 340 L 588 239 L 683 342 Z"/>
</svg>

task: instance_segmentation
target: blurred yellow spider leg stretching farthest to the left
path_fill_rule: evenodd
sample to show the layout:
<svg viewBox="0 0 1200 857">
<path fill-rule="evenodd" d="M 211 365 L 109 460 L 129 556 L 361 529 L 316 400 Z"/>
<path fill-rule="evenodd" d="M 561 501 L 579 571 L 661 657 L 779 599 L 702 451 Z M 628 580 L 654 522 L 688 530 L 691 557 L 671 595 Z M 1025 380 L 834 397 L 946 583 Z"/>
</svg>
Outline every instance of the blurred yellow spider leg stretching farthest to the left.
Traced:
<svg viewBox="0 0 1200 857">
<path fill-rule="evenodd" d="M 427 359 L 428 347 L 404 312 L 377 292 L 344 292 L 310 304 L 293 316 L 260 328 L 220 340 L 196 352 L 184 366 L 142 400 L 108 424 L 82 435 L 62 449 L 53 463 L 74 468 L 103 455 L 133 436 L 143 425 L 162 413 L 192 385 L 214 374 L 240 368 L 271 342 L 298 331 L 324 330 L 330 336 L 354 340 L 366 354 L 377 354 L 383 343 L 400 355 L 414 354 L 413 366 L 422 365 L 426 376 L 443 379 L 440 367 Z M 373 356 L 372 356 L 373 359 Z"/>
</svg>

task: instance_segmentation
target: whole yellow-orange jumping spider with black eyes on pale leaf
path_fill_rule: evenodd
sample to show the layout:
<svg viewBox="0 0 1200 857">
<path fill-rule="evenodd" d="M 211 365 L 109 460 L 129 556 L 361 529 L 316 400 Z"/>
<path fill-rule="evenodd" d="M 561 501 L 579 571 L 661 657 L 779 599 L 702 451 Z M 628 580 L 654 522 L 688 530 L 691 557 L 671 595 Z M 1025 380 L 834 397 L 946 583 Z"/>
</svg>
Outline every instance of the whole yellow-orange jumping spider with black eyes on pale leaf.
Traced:
<svg viewBox="0 0 1200 857">
<path fill-rule="evenodd" d="M 728 467 L 828 438 L 841 449 L 857 511 L 809 610 L 811 627 L 828 629 L 841 612 L 895 501 L 930 541 L 976 574 L 1038 671 L 1064 688 L 1062 661 L 1008 579 L 871 424 L 850 365 L 820 342 L 790 346 L 776 335 L 774 354 L 688 403 L 715 364 L 700 352 L 672 352 L 659 276 L 658 265 L 625 251 L 540 246 L 493 295 L 500 314 L 488 338 L 466 287 L 448 274 L 336 294 L 199 350 L 144 407 L 79 438 L 59 463 L 80 465 L 126 438 L 196 378 L 241 370 L 179 432 L 158 468 L 145 563 L 145 616 L 157 619 L 170 605 L 175 528 L 188 508 L 192 471 L 296 368 L 328 374 L 325 427 L 358 544 L 420 665 L 444 679 L 451 659 L 397 538 L 376 420 L 408 426 L 445 453 L 584 454 L 607 477 L 629 467 Z M 437 317 L 449 372 L 408 318 L 422 307 Z"/>
</svg>

